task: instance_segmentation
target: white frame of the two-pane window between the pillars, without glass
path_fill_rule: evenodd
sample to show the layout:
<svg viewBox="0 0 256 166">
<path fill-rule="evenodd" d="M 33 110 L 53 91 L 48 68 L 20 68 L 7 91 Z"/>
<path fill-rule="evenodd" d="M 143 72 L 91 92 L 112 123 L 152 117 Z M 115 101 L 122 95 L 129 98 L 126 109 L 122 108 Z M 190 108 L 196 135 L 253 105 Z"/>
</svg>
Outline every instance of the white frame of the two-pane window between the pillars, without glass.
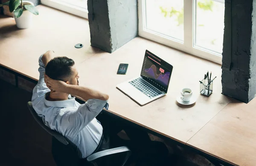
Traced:
<svg viewBox="0 0 256 166">
<path fill-rule="evenodd" d="M 223 2 L 223 0 L 214 0 L 217 2 Z M 147 38 L 149 40 L 156 41 L 157 43 L 170 46 L 172 48 L 178 49 L 180 51 L 201 57 L 212 62 L 222 64 L 222 55 L 204 49 L 199 46 L 194 46 L 195 41 L 195 9 L 196 0 L 183 0 L 184 3 L 184 41 L 183 43 L 169 37 L 146 29 L 146 19 L 145 18 L 145 0 L 138 0 L 138 16 L 139 16 L 139 36 Z"/>
</svg>

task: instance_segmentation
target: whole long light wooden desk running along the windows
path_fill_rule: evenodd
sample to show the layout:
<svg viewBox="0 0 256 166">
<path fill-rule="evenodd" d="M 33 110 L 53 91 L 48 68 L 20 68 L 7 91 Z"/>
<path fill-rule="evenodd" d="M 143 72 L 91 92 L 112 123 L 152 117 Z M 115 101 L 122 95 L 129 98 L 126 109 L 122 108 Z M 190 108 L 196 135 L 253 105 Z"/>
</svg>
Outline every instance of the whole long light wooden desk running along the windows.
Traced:
<svg viewBox="0 0 256 166">
<path fill-rule="evenodd" d="M 82 85 L 110 95 L 109 112 L 229 163 L 254 165 L 255 157 L 251 151 L 256 148 L 252 141 L 256 112 L 252 108 L 256 100 L 247 105 L 230 103 L 234 100 L 221 94 L 220 65 L 140 37 L 112 54 L 105 53 L 90 46 L 87 20 L 46 6 L 37 8 L 40 14 L 34 16 L 34 26 L 30 29 L 19 30 L 13 18 L 0 16 L 1 66 L 37 80 L 38 57 L 53 49 L 59 56 L 75 60 Z M 76 49 L 74 45 L 77 43 L 84 44 L 84 47 Z M 145 49 L 172 64 L 174 69 L 168 94 L 139 106 L 116 89 L 116 84 L 140 75 Z M 129 63 L 126 75 L 116 74 L 119 63 Z M 199 95 L 199 80 L 207 70 L 217 78 L 213 94 L 203 97 Z M 184 87 L 191 88 L 198 96 L 192 107 L 176 103 L 176 97 Z M 239 145 L 239 142 L 243 143 Z M 219 144 L 221 146 L 215 146 Z M 240 161 L 242 156 L 244 160 Z"/>
</svg>

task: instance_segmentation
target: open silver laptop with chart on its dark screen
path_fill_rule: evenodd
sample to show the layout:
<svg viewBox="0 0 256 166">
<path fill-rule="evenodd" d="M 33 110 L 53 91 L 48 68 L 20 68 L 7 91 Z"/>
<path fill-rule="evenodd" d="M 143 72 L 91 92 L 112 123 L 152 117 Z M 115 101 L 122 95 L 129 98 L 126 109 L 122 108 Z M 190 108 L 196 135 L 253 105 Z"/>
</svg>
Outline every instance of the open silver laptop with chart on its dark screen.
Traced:
<svg viewBox="0 0 256 166">
<path fill-rule="evenodd" d="M 141 106 L 166 95 L 173 66 L 146 50 L 140 77 L 116 86 Z"/>
</svg>

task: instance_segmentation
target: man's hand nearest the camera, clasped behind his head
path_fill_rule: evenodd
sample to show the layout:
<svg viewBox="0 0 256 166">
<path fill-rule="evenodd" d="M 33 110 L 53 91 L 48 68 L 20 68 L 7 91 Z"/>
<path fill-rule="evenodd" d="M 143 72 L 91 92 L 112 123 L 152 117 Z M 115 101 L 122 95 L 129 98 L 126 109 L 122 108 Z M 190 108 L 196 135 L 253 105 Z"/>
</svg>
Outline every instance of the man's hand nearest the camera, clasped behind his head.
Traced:
<svg viewBox="0 0 256 166">
<path fill-rule="evenodd" d="M 48 77 L 46 74 L 44 74 L 44 82 L 46 83 L 47 87 L 51 91 L 65 93 L 67 83 L 65 83 L 64 81 L 53 80 L 50 77 Z"/>
</svg>

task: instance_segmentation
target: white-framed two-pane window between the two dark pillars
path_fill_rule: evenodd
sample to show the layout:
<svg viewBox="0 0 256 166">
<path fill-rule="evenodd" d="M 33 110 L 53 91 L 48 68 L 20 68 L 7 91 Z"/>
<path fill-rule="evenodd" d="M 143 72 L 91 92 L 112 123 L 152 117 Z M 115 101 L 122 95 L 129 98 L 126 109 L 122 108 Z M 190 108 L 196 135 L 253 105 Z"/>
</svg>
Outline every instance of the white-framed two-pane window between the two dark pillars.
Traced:
<svg viewBox="0 0 256 166">
<path fill-rule="evenodd" d="M 139 35 L 221 64 L 224 0 L 139 0 Z"/>
</svg>

